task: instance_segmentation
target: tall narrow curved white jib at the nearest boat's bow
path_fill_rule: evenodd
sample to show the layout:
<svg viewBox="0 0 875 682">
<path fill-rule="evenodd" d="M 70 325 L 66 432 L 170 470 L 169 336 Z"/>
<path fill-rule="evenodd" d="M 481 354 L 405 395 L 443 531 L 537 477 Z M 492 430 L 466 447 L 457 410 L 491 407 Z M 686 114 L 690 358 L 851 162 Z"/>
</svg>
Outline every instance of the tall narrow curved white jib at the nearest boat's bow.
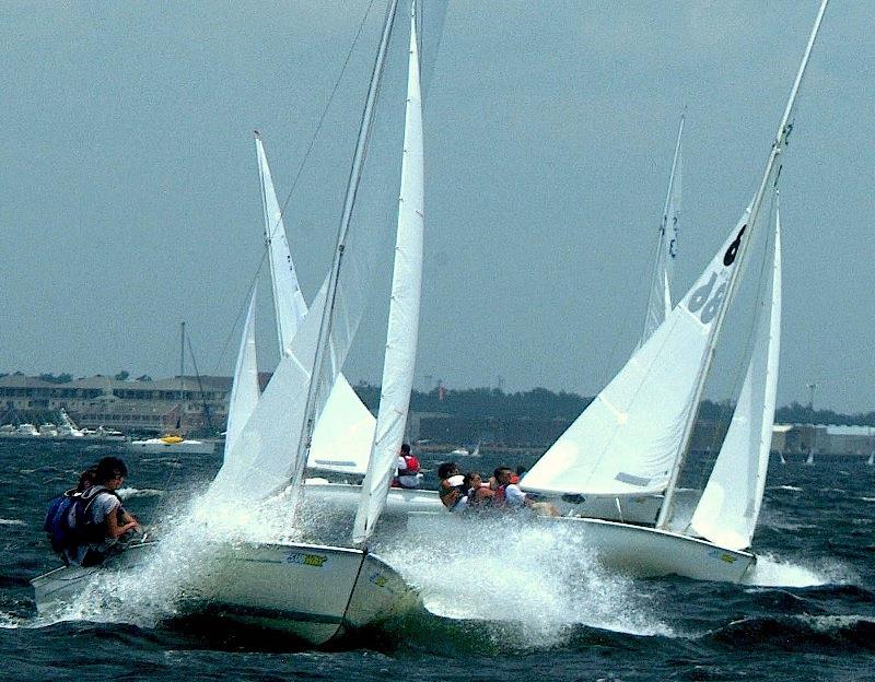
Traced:
<svg viewBox="0 0 875 682">
<path fill-rule="evenodd" d="M 395 264 L 392 278 L 389 320 L 380 412 L 362 495 L 355 514 L 353 542 L 363 543 L 383 511 L 389 482 L 407 425 L 410 391 L 413 388 L 419 304 L 422 291 L 422 237 L 424 230 L 424 150 L 422 102 L 417 51 L 416 7 L 410 15 L 410 57 L 407 77 L 401 189 Z"/>
</svg>

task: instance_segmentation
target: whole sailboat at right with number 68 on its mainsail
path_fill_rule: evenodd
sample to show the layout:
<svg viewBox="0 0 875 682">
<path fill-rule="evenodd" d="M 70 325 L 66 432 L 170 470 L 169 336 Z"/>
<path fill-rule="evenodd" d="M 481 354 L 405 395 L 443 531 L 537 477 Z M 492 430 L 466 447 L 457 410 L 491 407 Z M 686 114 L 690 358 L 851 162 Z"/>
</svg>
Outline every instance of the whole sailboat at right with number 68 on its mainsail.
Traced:
<svg viewBox="0 0 875 682">
<path fill-rule="evenodd" d="M 760 280 L 754 342 L 733 422 L 690 520 L 677 511 L 677 482 L 725 316 L 759 234 L 767 192 L 828 0 L 822 0 L 754 199 L 709 266 L 622 369 L 521 482 L 532 493 L 612 501 L 662 495 L 650 525 L 561 518 L 612 566 L 634 575 L 677 574 L 739 581 L 762 499 L 774 420 L 780 337 L 780 223 L 773 261 Z M 770 281 L 768 281 L 770 279 Z"/>
</svg>

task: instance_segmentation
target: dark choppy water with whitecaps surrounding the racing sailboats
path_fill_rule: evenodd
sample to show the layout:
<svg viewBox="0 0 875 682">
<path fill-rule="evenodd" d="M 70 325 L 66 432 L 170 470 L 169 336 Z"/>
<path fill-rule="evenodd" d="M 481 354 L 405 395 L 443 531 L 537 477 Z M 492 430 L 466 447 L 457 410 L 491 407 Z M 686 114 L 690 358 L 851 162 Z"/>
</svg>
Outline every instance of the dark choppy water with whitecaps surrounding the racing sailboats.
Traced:
<svg viewBox="0 0 875 682">
<path fill-rule="evenodd" d="M 875 467 L 863 458 L 772 462 L 748 585 L 632 579 L 568 531 L 487 520 L 441 545 L 384 542 L 425 609 L 308 650 L 177 612 L 170 586 L 191 555 L 37 615 L 28 581 L 57 565 L 46 504 L 109 454 L 120 452 L 0 443 L 0 680 L 875 680 Z M 703 482 L 702 460 L 689 485 Z M 218 456 L 126 461 L 126 506 L 159 529 L 219 466 Z"/>
</svg>

